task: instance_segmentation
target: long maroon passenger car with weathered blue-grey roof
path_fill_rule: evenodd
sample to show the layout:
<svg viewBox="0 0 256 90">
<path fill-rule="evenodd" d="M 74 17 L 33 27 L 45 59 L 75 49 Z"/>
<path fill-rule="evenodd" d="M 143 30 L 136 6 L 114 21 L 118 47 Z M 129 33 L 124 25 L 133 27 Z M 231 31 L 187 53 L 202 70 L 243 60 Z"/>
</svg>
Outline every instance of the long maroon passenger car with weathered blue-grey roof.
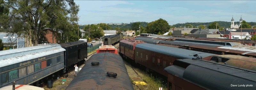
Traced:
<svg viewBox="0 0 256 90">
<path fill-rule="evenodd" d="M 197 58 L 210 60 L 216 54 L 172 48 L 167 46 L 140 43 L 135 45 L 134 61 L 167 77 L 165 67 L 172 65 L 176 59 Z"/>
</svg>

